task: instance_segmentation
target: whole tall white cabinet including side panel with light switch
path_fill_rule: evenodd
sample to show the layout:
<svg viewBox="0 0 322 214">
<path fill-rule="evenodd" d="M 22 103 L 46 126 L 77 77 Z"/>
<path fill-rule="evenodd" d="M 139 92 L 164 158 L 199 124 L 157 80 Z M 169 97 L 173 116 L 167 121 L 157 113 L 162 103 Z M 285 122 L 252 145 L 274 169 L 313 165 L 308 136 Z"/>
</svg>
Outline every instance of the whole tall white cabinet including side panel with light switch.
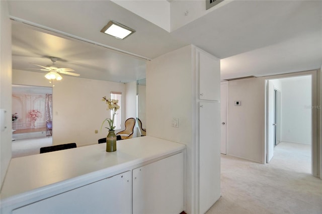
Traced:
<svg viewBox="0 0 322 214">
<path fill-rule="evenodd" d="M 185 211 L 204 213 L 220 197 L 220 60 L 189 45 L 147 62 L 146 80 L 148 135 L 186 144 Z"/>
</svg>

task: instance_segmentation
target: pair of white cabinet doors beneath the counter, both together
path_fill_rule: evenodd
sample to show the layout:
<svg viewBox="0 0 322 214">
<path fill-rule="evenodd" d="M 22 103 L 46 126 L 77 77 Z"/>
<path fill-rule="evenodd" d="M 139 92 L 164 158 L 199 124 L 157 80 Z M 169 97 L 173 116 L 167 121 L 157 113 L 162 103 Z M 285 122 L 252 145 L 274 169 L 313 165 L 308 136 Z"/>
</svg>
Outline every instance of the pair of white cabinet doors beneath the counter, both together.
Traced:
<svg viewBox="0 0 322 214">
<path fill-rule="evenodd" d="M 181 213 L 184 155 L 181 152 L 11 210 L 14 214 Z"/>
</svg>

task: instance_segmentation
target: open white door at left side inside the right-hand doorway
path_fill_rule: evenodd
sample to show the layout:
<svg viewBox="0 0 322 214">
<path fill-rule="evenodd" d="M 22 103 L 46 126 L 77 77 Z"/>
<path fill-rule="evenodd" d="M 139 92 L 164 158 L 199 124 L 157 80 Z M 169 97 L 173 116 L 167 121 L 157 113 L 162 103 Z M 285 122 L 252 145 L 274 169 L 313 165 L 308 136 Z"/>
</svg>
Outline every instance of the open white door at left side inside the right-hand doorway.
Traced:
<svg viewBox="0 0 322 214">
<path fill-rule="evenodd" d="M 266 163 L 269 163 L 274 155 L 274 85 L 267 81 L 267 144 L 266 144 Z"/>
</svg>

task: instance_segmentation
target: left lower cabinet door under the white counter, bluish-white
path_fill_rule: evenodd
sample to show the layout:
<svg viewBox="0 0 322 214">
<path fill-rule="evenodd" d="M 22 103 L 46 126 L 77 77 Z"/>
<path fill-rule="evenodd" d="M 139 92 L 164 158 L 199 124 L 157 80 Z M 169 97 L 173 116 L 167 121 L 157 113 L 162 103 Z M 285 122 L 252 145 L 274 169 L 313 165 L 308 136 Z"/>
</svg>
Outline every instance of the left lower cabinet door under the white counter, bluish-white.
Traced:
<svg viewBox="0 0 322 214">
<path fill-rule="evenodd" d="M 131 171 L 38 202 L 12 213 L 131 213 Z"/>
</svg>

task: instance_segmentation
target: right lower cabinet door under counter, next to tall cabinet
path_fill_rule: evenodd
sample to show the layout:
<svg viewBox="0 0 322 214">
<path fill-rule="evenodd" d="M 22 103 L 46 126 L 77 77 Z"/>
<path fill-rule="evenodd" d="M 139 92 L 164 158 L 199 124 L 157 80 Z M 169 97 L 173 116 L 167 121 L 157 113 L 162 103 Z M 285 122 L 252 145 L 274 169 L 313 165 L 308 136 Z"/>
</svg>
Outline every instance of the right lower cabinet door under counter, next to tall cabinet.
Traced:
<svg viewBox="0 0 322 214">
<path fill-rule="evenodd" d="M 133 169 L 133 213 L 181 213 L 183 153 Z"/>
</svg>

